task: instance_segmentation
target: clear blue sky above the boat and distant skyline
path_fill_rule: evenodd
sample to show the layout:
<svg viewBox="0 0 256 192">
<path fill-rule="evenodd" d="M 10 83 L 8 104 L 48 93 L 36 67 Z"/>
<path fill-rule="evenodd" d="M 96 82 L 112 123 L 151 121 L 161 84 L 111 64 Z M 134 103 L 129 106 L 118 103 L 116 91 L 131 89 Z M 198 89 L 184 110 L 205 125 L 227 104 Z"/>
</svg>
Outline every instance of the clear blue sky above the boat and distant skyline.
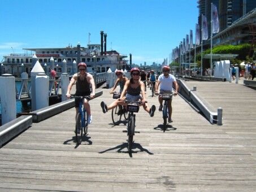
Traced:
<svg viewBox="0 0 256 192">
<path fill-rule="evenodd" d="M 197 0 L 8 0 L 0 1 L 0 62 L 23 48 L 101 43 L 132 63 L 162 63 L 198 22 Z M 12 47 L 12 48 L 11 48 Z M 12 50 L 13 49 L 13 50 Z"/>
</svg>

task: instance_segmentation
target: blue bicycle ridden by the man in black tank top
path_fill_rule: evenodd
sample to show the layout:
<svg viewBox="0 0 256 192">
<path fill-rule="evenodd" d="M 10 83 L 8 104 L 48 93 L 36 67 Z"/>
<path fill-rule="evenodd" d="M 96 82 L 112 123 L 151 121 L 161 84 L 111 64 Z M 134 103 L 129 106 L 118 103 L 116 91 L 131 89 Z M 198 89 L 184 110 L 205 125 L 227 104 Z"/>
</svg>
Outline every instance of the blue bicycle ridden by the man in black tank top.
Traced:
<svg viewBox="0 0 256 192">
<path fill-rule="evenodd" d="M 90 99 L 90 95 L 88 96 L 76 96 L 71 95 L 71 98 L 79 99 L 79 112 L 76 114 L 76 141 L 78 144 L 81 144 L 83 138 L 83 130 L 84 134 L 88 133 L 88 122 L 87 122 L 87 112 L 85 110 L 83 100 Z"/>
</svg>

